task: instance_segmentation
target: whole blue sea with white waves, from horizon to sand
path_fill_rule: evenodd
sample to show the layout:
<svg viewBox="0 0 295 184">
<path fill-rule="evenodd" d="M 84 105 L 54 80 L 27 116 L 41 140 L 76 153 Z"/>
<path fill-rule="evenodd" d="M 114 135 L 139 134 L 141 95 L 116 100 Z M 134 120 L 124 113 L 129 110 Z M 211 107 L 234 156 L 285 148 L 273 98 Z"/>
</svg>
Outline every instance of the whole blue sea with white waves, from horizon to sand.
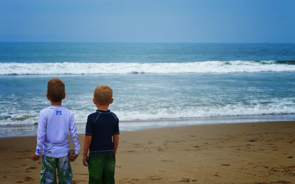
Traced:
<svg viewBox="0 0 295 184">
<path fill-rule="evenodd" d="M 100 84 L 123 131 L 295 120 L 295 44 L 0 43 L 0 137 L 36 134 L 55 77 L 80 133 Z"/>
</svg>

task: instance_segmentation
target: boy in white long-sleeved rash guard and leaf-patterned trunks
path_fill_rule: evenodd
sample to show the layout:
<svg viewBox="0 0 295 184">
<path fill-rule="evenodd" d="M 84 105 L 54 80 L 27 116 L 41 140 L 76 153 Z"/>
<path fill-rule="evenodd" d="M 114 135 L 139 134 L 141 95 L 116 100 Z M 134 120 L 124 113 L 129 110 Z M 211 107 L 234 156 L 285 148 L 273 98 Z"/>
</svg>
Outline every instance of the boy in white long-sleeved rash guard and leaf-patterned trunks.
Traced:
<svg viewBox="0 0 295 184">
<path fill-rule="evenodd" d="M 50 79 L 46 97 L 51 106 L 39 114 L 37 148 L 31 159 L 38 160 L 43 150 L 40 184 L 57 184 L 57 169 L 59 184 L 71 184 L 73 175 L 69 161 L 75 161 L 80 154 L 80 144 L 73 112 L 61 106 L 65 98 L 64 83 L 58 78 Z M 75 148 L 74 155 L 68 155 L 69 132 Z"/>
</svg>

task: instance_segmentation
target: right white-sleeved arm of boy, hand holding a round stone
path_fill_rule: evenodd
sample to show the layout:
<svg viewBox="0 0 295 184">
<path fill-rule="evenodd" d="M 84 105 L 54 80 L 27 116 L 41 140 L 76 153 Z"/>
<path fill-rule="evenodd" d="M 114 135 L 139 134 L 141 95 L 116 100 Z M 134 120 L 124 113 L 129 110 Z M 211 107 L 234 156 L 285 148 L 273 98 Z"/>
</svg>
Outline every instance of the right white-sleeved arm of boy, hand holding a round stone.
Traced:
<svg viewBox="0 0 295 184">
<path fill-rule="evenodd" d="M 74 145 L 75 149 L 75 154 L 74 155 L 69 155 L 69 160 L 70 161 L 75 161 L 78 155 L 80 154 L 80 144 L 79 144 L 79 139 L 78 139 L 78 133 L 77 133 L 77 128 L 76 128 L 76 123 L 75 123 L 75 117 L 74 114 L 71 114 L 71 119 L 70 119 L 70 136 Z"/>
</svg>

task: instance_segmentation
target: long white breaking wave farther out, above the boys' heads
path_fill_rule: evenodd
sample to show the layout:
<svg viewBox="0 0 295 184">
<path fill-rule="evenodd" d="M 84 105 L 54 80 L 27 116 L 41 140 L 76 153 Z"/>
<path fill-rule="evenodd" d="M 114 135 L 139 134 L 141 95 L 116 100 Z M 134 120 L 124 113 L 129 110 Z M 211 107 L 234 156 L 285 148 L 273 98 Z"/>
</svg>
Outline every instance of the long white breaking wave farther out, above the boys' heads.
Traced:
<svg viewBox="0 0 295 184">
<path fill-rule="evenodd" d="M 185 63 L 0 63 L 0 75 L 169 74 L 295 71 L 295 61 Z"/>
</svg>

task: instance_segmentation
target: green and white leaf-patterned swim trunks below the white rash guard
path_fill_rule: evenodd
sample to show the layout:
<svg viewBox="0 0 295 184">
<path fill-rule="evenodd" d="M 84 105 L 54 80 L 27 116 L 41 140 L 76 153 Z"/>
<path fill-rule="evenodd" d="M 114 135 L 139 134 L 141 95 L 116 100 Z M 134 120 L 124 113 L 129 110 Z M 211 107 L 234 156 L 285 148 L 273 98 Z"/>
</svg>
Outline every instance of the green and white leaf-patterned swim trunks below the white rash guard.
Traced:
<svg viewBox="0 0 295 184">
<path fill-rule="evenodd" d="M 57 169 L 59 184 L 73 183 L 72 168 L 68 156 L 51 158 L 43 155 L 40 184 L 57 184 Z"/>
</svg>

